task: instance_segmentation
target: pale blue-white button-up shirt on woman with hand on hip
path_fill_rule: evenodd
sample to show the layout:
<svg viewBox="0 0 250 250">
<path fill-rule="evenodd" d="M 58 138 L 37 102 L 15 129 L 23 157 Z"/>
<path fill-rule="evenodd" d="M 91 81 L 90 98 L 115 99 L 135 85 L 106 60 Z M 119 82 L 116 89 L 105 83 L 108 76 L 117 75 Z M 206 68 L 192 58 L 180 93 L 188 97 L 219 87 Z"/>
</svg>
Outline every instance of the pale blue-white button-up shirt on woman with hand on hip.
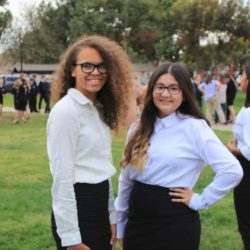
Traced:
<svg viewBox="0 0 250 250">
<path fill-rule="evenodd" d="M 204 120 L 176 113 L 157 119 L 144 170 L 137 171 L 128 164 L 119 177 L 115 201 L 118 238 L 124 235 L 134 180 L 162 187 L 193 188 L 206 164 L 216 175 L 201 194 L 193 193 L 189 207 L 194 210 L 208 208 L 234 188 L 242 178 L 242 168 Z"/>
</svg>

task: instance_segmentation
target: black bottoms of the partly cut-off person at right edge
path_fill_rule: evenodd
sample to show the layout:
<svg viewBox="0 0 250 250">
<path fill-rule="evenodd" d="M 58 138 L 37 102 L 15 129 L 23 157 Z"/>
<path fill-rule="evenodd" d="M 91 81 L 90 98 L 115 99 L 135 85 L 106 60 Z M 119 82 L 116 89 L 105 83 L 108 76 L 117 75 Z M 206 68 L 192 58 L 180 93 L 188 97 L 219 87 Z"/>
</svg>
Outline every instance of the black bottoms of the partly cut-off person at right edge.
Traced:
<svg viewBox="0 0 250 250">
<path fill-rule="evenodd" d="M 234 189 L 234 205 L 245 250 L 250 250 L 250 161 L 243 156 L 239 156 L 238 160 L 244 175 L 240 184 Z"/>
</svg>

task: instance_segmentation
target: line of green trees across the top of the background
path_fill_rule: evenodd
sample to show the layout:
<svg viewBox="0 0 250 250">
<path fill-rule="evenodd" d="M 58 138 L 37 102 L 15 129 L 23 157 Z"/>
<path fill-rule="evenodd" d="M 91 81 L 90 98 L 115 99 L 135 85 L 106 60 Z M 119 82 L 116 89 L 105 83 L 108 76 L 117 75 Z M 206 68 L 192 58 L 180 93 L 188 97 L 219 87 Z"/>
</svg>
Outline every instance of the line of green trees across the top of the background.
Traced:
<svg viewBox="0 0 250 250">
<path fill-rule="evenodd" d="M 250 59 L 250 7 L 243 0 L 58 0 L 26 9 L 25 19 L 7 28 L 0 22 L 13 62 L 57 63 L 71 42 L 90 34 L 116 40 L 133 62 L 208 69 L 241 68 Z"/>
</svg>

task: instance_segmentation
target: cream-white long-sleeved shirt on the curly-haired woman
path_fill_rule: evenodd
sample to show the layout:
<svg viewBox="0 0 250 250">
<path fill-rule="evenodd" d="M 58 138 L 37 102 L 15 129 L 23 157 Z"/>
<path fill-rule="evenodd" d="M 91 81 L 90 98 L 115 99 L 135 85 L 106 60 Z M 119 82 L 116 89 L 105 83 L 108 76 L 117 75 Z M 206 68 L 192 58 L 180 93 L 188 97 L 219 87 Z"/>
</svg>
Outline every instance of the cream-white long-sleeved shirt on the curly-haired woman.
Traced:
<svg viewBox="0 0 250 250">
<path fill-rule="evenodd" d="M 109 179 L 110 223 L 116 223 L 110 178 L 112 164 L 109 127 L 93 103 L 72 88 L 53 107 L 47 123 L 47 149 L 53 176 L 52 207 L 62 246 L 81 243 L 75 183 L 100 183 Z"/>
</svg>

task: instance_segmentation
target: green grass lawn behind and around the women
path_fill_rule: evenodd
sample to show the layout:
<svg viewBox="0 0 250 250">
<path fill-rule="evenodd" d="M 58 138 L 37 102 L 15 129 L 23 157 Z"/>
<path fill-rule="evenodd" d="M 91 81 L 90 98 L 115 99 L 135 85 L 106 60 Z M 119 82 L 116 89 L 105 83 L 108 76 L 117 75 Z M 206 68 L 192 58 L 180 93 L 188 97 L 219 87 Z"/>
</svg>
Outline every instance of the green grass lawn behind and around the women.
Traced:
<svg viewBox="0 0 250 250">
<path fill-rule="evenodd" d="M 236 110 L 243 104 L 240 93 Z M 11 105 L 5 98 L 5 106 Z M 9 105 L 7 105 L 9 104 Z M 55 249 L 50 232 L 51 176 L 46 154 L 47 115 L 31 115 L 25 124 L 12 124 L 13 113 L 0 121 L 0 249 Z M 231 132 L 216 131 L 227 143 Z M 113 157 L 117 166 L 114 192 L 117 194 L 119 161 L 125 133 L 113 135 Z M 202 190 L 213 178 L 206 168 L 195 187 Z M 232 192 L 206 211 L 201 211 L 201 250 L 241 250 Z"/>
</svg>

